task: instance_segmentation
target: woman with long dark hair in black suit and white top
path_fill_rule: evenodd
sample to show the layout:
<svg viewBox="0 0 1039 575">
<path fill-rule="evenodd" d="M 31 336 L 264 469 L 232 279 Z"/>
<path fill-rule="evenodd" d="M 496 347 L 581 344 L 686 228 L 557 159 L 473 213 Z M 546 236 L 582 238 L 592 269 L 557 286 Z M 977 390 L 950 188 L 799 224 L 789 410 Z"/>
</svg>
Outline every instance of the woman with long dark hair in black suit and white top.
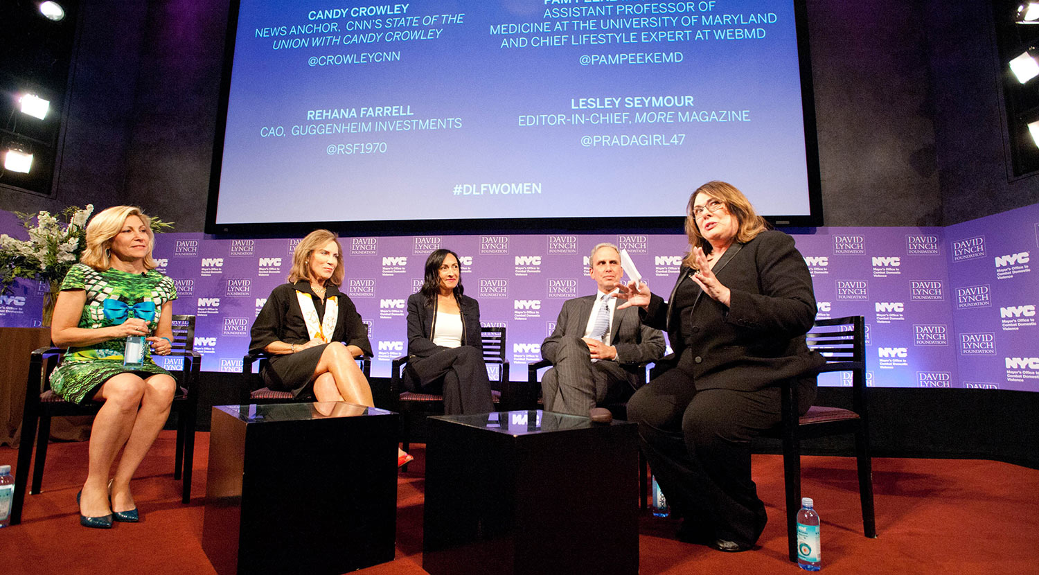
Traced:
<svg viewBox="0 0 1039 575">
<path fill-rule="evenodd" d="M 422 288 L 407 298 L 404 385 L 443 394 L 448 415 L 489 413 L 495 404 L 483 363 L 480 305 L 462 291 L 458 255 L 430 254 Z"/>
</svg>

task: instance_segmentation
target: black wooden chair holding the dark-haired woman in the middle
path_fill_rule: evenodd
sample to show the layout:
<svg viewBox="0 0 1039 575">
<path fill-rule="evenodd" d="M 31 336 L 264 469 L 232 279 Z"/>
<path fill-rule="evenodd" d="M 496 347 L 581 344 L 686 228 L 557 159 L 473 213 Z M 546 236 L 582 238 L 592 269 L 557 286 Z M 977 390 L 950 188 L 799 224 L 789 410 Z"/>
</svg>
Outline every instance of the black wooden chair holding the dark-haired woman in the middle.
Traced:
<svg viewBox="0 0 1039 575">
<path fill-rule="evenodd" d="M 499 389 L 491 389 L 490 392 L 494 401 L 499 409 L 501 407 L 512 409 L 510 406 L 513 401 L 514 386 L 509 383 L 509 362 L 505 361 L 505 328 L 481 328 L 480 340 L 483 346 L 483 361 L 487 364 L 487 374 L 492 382 L 496 380 L 494 375 L 498 375 Z M 400 437 L 403 449 L 407 451 L 410 445 L 410 419 L 443 415 L 444 396 L 405 390 L 403 386 L 405 366 L 407 366 L 407 356 L 397 358 L 392 363 L 389 409 L 401 414 Z"/>
</svg>

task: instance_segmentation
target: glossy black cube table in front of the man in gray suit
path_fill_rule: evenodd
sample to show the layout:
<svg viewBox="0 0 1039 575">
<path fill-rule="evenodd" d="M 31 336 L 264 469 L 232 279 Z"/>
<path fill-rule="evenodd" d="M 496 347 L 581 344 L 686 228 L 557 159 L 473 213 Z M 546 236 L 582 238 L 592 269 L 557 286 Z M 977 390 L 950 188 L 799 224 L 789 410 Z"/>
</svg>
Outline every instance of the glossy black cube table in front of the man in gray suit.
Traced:
<svg viewBox="0 0 1039 575">
<path fill-rule="evenodd" d="M 638 573 L 635 423 L 537 410 L 428 424 L 424 570 Z"/>
</svg>

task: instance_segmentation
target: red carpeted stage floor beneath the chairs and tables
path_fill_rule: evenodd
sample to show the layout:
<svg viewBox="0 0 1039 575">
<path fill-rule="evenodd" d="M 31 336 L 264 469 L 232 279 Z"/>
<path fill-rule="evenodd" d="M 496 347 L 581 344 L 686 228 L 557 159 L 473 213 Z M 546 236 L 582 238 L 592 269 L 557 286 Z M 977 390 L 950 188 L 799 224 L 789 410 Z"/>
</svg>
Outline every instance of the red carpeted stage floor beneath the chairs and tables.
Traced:
<svg viewBox="0 0 1039 575">
<path fill-rule="evenodd" d="M 192 501 L 183 505 L 180 482 L 171 477 L 174 433 L 163 432 L 137 472 L 141 522 L 116 523 L 111 530 L 86 529 L 77 521 L 87 444 L 52 444 L 44 493 L 26 496 L 21 525 L 0 529 L 0 570 L 214 573 L 201 543 L 208 440 L 209 434 L 197 435 Z M 0 465 L 14 466 L 16 453 L 0 447 Z M 425 573 L 422 446 L 412 453 L 416 463 L 398 481 L 396 559 L 356 573 Z M 854 460 L 805 456 L 803 467 L 804 495 L 815 498 L 823 519 L 824 572 L 1039 573 L 1039 470 L 991 461 L 875 459 L 879 539 L 869 540 L 862 537 Z M 754 455 L 754 479 L 770 519 L 760 548 L 727 554 L 681 543 L 674 522 L 644 517 L 640 573 L 798 573 L 787 560 L 781 458 Z"/>
</svg>

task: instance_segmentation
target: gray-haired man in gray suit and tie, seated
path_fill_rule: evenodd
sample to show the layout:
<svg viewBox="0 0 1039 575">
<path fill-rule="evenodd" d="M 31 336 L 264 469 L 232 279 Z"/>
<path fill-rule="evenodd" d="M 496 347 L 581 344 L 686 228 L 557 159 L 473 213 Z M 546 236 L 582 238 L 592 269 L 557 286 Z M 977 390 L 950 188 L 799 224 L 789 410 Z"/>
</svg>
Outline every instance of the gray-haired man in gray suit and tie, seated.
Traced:
<svg viewBox="0 0 1039 575">
<path fill-rule="evenodd" d="M 564 302 L 541 343 L 541 357 L 553 365 L 541 378 L 545 411 L 587 416 L 596 403 L 625 401 L 645 381 L 639 364 L 664 355 L 660 330 L 643 325 L 635 308 L 616 309 L 611 293 L 623 276 L 616 245 L 592 249 L 588 276 L 596 295 Z"/>
</svg>

